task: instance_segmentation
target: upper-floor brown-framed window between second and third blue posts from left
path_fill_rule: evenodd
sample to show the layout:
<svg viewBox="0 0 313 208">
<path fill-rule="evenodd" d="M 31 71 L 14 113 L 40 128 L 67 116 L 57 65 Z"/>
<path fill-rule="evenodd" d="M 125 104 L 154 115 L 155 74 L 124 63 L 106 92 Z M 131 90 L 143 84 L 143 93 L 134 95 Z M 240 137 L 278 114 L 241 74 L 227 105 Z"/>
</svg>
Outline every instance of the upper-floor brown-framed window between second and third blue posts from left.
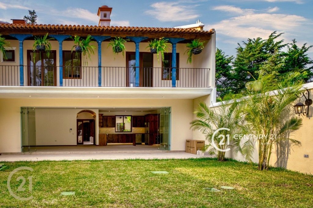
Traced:
<svg viewBox="0 0 313 208">
<path fill-rule="evenodd" d="M 81 78 L 81 54 L 76 55 L 75 51 L 63 51 L 63 78 Z"/>
</svg>

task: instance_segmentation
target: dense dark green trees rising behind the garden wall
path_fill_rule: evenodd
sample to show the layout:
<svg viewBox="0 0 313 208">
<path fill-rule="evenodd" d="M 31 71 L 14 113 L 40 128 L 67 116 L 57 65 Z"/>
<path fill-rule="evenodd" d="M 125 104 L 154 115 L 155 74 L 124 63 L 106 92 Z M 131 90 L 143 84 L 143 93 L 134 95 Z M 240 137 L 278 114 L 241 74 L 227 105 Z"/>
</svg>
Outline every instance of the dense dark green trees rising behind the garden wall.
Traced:
<svg viewBox="0 0 313 208">
<path fill-rule="evenodd" d="M 246 82 L 258 79 L 260 71 L 274 75 L 274 79 L 299 72 L 294 81 L 312 81 L 313 60 L 307 52 L 313 46 L 307 46 L 305 43 L 299 47 L 295 39 L 292 43 L 285 44 L 281 35 L 282 33 L 274 31 L 266 40 L 258 37 L 249 38 L 242 44 L 238 43 L 236 57 L 231 62 L 227 59 L 230 57 L 217 49 L 217 95 L 223 97 L 228 93 L 240 93 L 244 90 Z"/>
</svg>

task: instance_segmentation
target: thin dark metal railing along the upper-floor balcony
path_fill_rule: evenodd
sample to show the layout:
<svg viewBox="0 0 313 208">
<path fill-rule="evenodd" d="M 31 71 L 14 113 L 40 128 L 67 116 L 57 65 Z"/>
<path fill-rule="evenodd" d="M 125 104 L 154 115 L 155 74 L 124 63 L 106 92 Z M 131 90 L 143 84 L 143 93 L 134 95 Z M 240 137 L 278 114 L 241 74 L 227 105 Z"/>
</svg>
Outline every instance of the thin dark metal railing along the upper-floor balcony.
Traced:
<svg viewBox="0 0 313 208">
<path fill-rule="evenodd" d="M 176 68 L 173 82 L 173 68 L 164 67 L 0 66 L 0 86 L 209 88 L 209 70 Z"/>
</svg>

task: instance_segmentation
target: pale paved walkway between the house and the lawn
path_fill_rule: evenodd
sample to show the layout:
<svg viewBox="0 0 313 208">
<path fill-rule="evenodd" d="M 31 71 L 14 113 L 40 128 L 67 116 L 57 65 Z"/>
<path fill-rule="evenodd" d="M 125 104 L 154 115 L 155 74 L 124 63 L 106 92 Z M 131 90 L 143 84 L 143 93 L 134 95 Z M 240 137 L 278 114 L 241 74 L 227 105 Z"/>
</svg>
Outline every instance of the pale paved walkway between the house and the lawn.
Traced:
<svg viewBox="0 0 313 208">
<path fill-rule="evenodd" d="M 80 154 L 10 154 L 1 155 L 0 161 L 43 161 L 43 160 L 125 160 L 125 159 L 187 159 L 208 156 L 186 152 L 119 152 L 119 153 L 80 153 Z"/>
</svg>

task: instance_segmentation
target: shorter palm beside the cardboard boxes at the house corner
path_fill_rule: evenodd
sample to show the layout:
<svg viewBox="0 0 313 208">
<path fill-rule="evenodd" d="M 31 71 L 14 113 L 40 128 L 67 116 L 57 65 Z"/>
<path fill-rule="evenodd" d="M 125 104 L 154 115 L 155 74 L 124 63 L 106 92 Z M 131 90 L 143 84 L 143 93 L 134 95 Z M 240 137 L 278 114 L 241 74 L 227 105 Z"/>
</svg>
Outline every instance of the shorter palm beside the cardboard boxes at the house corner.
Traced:
<svg viewBox="0 0 313 208">
<path fill-rule="evenodd" d="M 242 121 L 240 109 L 241 103 L 236 100 L 224 101 L 215 108 L 208 108 L 205 103 L 200 103 L 195 111 L 198 119 L 190 122 L 193 131 L 200 131 L 205 135 L 205 139 L 210 142 L 205 149 L 209 149 L 209 153 L 216 155 L 219 161 L 224 161 L 225 152 L 231 145 L 233 135 L 240 132 Z M 229 130 L 218 130 L 220 128 Z M 217 130 L 218 133 L 214 135 Z"/>
</svg>

